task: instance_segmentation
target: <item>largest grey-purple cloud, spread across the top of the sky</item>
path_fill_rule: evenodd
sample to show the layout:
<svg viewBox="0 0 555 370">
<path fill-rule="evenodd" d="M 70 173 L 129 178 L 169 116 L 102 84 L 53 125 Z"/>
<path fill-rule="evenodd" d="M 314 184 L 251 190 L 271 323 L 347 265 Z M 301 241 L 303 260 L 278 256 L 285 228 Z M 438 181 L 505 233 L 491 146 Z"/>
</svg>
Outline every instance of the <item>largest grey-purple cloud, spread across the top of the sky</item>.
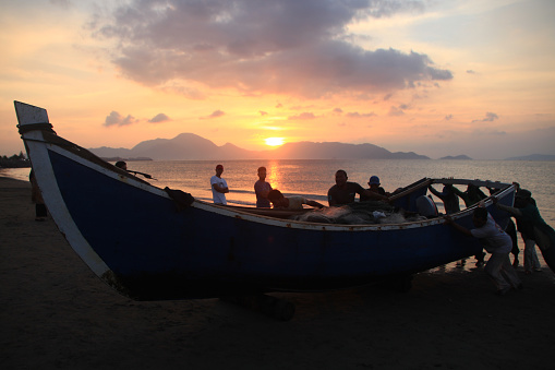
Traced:
<svg viewBox="0 0 555 370">
<path fill-rule="evenodd" d="M 132 0 L 92 29 L 117 41 L 113 62 L 125 76 L 149 86 L 387 93 L 453 74 L 424 53 L 362 49 L 347 26 L 422 8 L 415 0 Z"/>
</svg>

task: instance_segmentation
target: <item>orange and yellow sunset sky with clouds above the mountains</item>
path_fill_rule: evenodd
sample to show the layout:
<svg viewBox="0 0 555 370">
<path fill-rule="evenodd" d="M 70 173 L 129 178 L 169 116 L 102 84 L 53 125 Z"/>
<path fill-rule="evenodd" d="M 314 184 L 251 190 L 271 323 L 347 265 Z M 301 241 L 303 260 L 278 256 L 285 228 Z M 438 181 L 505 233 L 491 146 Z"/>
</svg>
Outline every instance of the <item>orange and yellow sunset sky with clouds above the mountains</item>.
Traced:
<svg viewBox="0 0 555 370">
<path fill-rule="evenodd" d="M 23 150 L 13 100 L 84 147 L 555 154 L 554 19 L 553 0 L 2 0 L 0 155 Z"/>
</svg>

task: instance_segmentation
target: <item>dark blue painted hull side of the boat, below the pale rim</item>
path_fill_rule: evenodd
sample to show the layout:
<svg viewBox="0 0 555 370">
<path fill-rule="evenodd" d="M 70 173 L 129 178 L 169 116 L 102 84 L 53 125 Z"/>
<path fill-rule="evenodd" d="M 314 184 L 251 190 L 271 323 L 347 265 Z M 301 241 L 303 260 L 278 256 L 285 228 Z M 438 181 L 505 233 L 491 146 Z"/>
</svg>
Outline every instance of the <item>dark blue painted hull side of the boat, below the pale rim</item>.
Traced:
<svg viewBox="0 0 555 370">
<path fill-rule="evenodd" d="M 49 155 L 73 220 L 137 299 L 341 288 L 424 271 L 482 249 L 443 224 L 314 230 L 196 207 L 178 212 L 170 199 Z"/>
</svg>

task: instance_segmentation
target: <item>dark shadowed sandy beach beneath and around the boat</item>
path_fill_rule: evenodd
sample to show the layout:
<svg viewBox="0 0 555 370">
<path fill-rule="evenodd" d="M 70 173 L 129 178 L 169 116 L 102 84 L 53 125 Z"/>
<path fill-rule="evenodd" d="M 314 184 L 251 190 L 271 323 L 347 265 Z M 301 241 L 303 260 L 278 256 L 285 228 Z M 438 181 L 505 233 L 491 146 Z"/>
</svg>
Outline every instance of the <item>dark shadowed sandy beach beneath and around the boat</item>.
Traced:
<svg viewBox="0 0 555 370">
<path fill-rule="evenodd" d="M 2 369 L 554 367 L 548 268 L 518 270 L 524 289 L 504 297 L 475 267 L 421 273 L 407 294 L 279 294 L 297 307 L 281 322 L 219 299 L 122 297 L 34 212 L 28 182 L 0 177 Z"/>
</svg>

